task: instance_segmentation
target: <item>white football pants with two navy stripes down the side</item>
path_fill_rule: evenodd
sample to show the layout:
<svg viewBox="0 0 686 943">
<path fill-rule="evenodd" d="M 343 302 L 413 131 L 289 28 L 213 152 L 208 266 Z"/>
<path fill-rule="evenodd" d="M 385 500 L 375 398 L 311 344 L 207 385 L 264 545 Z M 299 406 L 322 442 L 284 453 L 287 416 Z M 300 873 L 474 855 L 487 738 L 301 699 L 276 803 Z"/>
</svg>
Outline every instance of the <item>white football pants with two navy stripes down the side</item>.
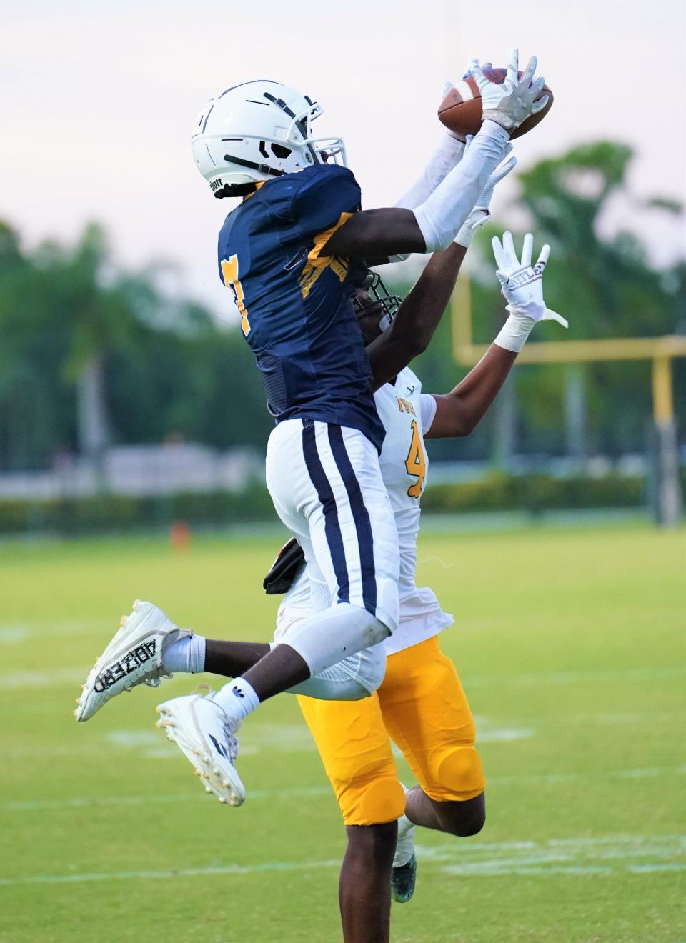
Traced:
<svg viewBox="0 0 686 943">
<path fill-rule="evenodd" d="M 267 488 L 312 578 L 325 582 L 331 596 L 330 608 L 299 620 L 288 641 L 315 675 L 376 645 L 397 626 L 393 509 L 372 442 L 357 429 L 326 422 L 276 426 L 267 448 Z"/>
</svg>

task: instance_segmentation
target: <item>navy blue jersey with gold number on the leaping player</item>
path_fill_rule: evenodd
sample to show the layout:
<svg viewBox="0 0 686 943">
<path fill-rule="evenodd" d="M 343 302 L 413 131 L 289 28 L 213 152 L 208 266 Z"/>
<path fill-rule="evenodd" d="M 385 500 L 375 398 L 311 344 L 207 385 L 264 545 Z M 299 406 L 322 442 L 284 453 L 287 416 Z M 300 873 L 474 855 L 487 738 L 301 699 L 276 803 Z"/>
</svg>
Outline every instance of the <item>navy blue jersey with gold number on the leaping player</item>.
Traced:
<svg viewBox="0 0 686 943">
<path fill-rule="evenodd" d="M 367 270 L 320 256 L 358 209 L 360 187 L 338 165 L 268 180 L 226 217 L 219 271 L 233 291 L 276 422 L 350 426 L 380 449 L 384 430 L 352 303 Z"/>
</svg>

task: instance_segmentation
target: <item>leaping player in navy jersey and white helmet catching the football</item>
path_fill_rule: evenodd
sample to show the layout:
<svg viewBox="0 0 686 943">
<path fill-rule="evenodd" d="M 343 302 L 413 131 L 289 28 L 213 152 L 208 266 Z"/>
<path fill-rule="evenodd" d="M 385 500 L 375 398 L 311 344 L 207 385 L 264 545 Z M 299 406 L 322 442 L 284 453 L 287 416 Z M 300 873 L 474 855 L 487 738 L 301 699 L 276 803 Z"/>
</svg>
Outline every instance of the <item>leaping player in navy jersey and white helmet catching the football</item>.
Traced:
<svg viewBox="0 0 686 943">
<path fill-rule="evenodd" d="M 462 159 L 455 142 L 446 158 L 453 166 L 411 208 L 401 201 L 360 210 L 343 141 L 312 137 L 322 108 L 293 89 L 246 82 L 212 98 L 200 115 L 192 140 L 199 170 L 215 197 L 243 199 L 220 233 L 219 269 L 276 420 L 267 485 L 332 600 L 244 677 L 193 703 L 194 715 L 216 728 L 218 762 L 235 755 L 235 731 L 261 701 L 383 640 L 397 625 L 397 535 L 378 466 L 383 426 L 353 297 L 364 259 L 433 252 L 454 239 L 510 146 L 510 132 L 545 105 L 545 98 L 536 101 L 544 79 L 533 80 L 535 66 L 534 58 L 518 77 L 515 50 L 505 81 L 495 85 L 473 62 L 481 130 Z M 411 344 L 409 350 L 403 365 L 416 353 Z M 77 720 L 121 690 L 158 682 L 163 648 L 181 637 L 135 608 L 93 667 Z M 184 727 L 188 705 L 177 700 L 166 720 Z M 229 791 L 238 803 L 243 785 L 230 766 Z"/>
</svg>

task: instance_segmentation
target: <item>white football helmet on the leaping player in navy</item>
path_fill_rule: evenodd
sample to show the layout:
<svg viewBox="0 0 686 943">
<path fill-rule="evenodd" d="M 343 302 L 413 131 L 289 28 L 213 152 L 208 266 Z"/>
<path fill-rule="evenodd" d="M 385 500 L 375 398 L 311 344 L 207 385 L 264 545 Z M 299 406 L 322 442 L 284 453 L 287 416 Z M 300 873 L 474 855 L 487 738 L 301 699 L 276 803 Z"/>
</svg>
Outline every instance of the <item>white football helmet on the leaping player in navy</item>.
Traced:
<svg viewBox="0 0 686 943">
<path fill-rule="evenodd" d="M 241 196 L 259 180 L 328 160 L 347 166 L 340 138 L 312 138 L 324 112 L 307 95 L 267 79 L 209 99 L 195 124 L 192 155 L 216 197 Z"/>
</svg>

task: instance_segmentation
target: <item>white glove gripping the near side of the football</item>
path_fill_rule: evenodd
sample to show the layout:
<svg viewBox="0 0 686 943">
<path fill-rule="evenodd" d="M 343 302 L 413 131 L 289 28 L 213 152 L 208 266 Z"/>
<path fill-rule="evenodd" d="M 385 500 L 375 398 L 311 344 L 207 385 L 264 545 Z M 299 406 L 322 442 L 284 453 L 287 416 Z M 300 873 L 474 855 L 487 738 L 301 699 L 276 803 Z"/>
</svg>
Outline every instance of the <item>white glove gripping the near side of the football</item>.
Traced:
<svg viewBox="0 0 686 943">
<path fill-rule="evenodd" d="M 478 64 L 478 59 L 472 59 L 469 67 L 477 83 L 478 91 L 481 92 L 484 120 L 489 118 L 508 131 L 519 127 L 529 115 L 538 114 L 541 108 L 545 108 L 548 101 L 547 95 L 544 95 L 540 101 L 536 101 L 545 84 L 543 77 L 533 81 L 537 64 L 536 57 L 532 56 L 528 60 L 527 68 L 521 78 L 517 74 L 518 63 L 519 50 L 512 49 L 508 58 L 508 74 L 501 85 L 486 77 Z"/>
</svg>

